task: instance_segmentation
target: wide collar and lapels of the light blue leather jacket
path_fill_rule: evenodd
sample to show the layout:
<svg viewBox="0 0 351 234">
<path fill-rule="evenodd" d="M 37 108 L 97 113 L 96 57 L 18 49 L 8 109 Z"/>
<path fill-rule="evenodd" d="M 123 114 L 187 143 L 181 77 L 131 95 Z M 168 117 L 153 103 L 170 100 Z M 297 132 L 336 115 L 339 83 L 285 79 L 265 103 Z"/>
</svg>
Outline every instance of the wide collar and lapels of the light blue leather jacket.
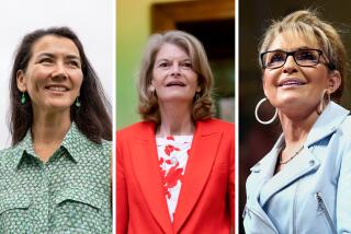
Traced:
<svg viewBox="0 0 351 234">
<path fill-rule="evenodd" d="M 284 143 L 284 136 L 281 134 L 271 152 L 268 153 L 258 164 L 251 167 L 252 173 L 260 173 L 260 185 L 254 194 L 256 200 L 260 198 L 261 206 L 279 190 L 295 182 L 305 174 L 318 169 L 320 163 L 318 159 L 309 150 L 309 147 L 315 142 L 330 136 L 337 130 L 342 121 L 349 115 L 349 110 L 337 105 L 333 102 L 326 107 L 322 114 L 314 124 L 310 132 L 304 143 L 303 151 L 296 156 L 294 161 L 286 165 L 286 168 L 273 176 L 279 152 L 282 150 Z M 264 186 L 263 186 L 264 185 Z M 265 192 L 261 192 L 264 187 Z M 262 196 L 260 196 L 262 195 Z M 259 197 L 260 196 L 260 197 Z"/>
</svg>

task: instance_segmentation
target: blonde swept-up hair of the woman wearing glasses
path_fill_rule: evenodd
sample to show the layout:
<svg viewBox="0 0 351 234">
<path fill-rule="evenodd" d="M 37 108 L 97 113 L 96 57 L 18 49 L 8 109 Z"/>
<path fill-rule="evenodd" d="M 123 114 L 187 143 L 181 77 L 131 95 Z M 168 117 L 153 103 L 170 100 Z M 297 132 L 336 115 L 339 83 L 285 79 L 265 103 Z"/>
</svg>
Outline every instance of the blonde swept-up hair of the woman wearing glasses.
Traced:
<svg viewBox="0 0 351 234">
<path fill-rule="evenodd" d="M 336 28 L 330 23 L 319 19 L 316 11 L 295 11 L 280 21 L 272 21 L 260 43 L 260 54 L 267 51 L 274 38 L 285 32 L 296 36 L 304 36 L 309 42 L 318 43 L 329 63 L 340 72 L 341 84 L 331 94 L 333 101 L 340 102 L 348 71 L 348 61 L 346 48 Z"/>
</svg>

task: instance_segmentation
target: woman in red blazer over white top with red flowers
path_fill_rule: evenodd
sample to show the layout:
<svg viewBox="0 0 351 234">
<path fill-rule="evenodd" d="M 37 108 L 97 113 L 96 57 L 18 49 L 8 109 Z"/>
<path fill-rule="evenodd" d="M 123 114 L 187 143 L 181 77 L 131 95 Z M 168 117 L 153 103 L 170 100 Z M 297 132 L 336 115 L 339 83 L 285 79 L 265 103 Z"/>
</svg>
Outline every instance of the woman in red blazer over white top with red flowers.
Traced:
<svg viewBox="0 0 351 234">
<path fill-rule="evenodd" d="M 117 233 L 234 232 L 234 125 L 212 118 L 201 43 L 150 37 L 138 80 L 144 121 L 117 132 Z"/>
</svg>

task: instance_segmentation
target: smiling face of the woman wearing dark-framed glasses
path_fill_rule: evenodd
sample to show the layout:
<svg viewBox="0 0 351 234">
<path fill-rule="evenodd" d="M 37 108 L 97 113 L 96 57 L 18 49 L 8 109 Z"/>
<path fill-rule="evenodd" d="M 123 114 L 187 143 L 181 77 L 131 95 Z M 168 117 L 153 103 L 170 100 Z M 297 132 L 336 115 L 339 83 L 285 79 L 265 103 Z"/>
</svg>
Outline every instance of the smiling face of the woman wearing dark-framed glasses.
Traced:
<svg viewBox="0 0 351 234">
<path fill-rule="evenodd" d="M 309 42 L 303 36 L 281 33 L 268 50 L 295 51 L 298 49 L 320 49 L 317 42 Z M 330 71 L 326 59 L 310 67 L 296 65 L 288 56 L 281 68 L 263 70 L 263 90 L 273 106 L 284 112 L 306 109 L 314 112 L 321 102 L 326 90 L 329 94 L 340 85 L 338 71 Z"/>
</svg>

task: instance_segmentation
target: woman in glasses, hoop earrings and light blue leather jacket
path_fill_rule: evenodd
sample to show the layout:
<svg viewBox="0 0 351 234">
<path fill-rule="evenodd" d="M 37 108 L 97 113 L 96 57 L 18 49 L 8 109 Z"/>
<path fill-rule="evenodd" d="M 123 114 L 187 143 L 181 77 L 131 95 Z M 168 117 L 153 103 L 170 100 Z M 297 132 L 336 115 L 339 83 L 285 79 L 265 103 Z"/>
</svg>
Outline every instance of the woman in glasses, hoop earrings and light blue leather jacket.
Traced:
<svg viewBox="0 0 351 234">
<path fill-rule="evenodd" d="M 274 21 L 260 46 L 262 124 L 283 133 L 251 168 L 244 225 L 251 233 L 351 233 L 351 117 L 336 104 L 347 56 L 337 31 L 309 10 Z M 260 105 L 276 109 L 260 119 Z"/>
</svg>

